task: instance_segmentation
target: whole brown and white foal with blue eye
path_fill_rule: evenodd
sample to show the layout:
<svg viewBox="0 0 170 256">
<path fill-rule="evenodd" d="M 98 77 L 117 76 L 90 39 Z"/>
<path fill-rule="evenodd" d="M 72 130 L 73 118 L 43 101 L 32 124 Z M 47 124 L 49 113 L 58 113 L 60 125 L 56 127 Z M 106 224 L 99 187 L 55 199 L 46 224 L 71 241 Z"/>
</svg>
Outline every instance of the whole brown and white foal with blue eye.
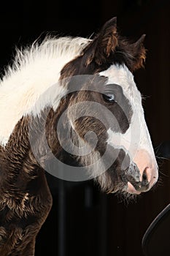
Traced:
<svg viewBox="0 0 170 256">
<path fill-rule="evenodd" d="M 45 39 L 20 52 L 0 86 L 0 255 L 33 256 L 52 206 L 45 170 L 93 178 L 105 192 L 140 194 L 158 166 L 132 73 L 131 44 L 116 19 L 94 39 Z"/>
</svg>

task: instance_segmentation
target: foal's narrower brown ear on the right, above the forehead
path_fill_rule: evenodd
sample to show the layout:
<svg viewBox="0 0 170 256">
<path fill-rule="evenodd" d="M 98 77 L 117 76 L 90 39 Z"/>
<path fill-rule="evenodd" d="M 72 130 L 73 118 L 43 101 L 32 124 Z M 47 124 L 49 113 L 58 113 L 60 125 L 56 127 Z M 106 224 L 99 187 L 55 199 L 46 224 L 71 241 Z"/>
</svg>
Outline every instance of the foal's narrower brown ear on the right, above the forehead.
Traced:
<svg viewBox="0 0 170 256">
<path fill-rule="evenodd" d="M 134 63 L 132 67 L 132 71 L 139 69 L 144 66 L 144 61 L 146 59 L 146 49 L 144 48 L 143 42 L 145 34 L 142 35 L 134 44 L 131 45 L 131 51 L 134 57 Z"/>
</svg>

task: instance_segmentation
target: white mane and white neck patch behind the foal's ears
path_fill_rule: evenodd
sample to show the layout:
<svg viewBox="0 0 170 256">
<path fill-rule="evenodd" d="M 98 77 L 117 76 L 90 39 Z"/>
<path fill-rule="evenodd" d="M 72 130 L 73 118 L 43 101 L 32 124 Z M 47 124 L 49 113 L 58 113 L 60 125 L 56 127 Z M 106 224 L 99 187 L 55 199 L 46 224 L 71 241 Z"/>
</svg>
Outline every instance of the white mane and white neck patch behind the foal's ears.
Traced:
<svg viewBox="0 0 170 256">
<path fill-rule="evenodd" d="M 81 37 L 47 38 L 41 45 L 34 43 L 17 51 L 12 67 L 7 68 L 0 81 L 1 145 L 6 145 L 20 118 L 38 115 L 58 97 L 56 107 L 66 89 L 56 84 L 53 93 L 44 93 L 58 83 L 63 66 L 78 56 L 88 42 L 89 39 Z"/>
</svg>

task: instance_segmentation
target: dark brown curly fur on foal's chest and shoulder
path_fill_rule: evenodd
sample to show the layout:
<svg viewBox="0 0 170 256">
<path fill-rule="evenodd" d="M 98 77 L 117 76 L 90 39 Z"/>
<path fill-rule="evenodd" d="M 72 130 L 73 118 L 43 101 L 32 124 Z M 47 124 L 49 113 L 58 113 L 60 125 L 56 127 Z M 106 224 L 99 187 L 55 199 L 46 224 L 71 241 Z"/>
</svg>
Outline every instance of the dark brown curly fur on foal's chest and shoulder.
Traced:
<svg viewBox="0 0 170 256">
<path fill-rule="evenodd" d="M 0 148 L 1 256 L 33 256 L 36 235 L 52 206 L 45 171 L 28 143 L 28 120 L 22 118 Z"/>
</svg>

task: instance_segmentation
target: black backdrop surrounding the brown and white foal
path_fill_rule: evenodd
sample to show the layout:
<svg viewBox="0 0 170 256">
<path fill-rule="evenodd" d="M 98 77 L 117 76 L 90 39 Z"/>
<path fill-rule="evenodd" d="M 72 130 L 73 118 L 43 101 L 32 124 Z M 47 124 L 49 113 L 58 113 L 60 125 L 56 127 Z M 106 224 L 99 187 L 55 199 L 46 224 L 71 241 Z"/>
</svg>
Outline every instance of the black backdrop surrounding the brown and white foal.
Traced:
<svg viewBox="0 0 170 256">
<path fill-rule="evenodd" d="M 16 45 L 29 45 L 47 32 L 90 37 L 114 16 L 120 34 L 131 39 L 147 34 L 145 69 L 136 72 L 135 80 L 146 97 L 144 111 L 158 157 L 169 157 L 169 1 L 3 1 L 1 74 Z M 160 171 L 158 186 L 128 205 L 115 195 L 102 194 L 92 181 L 69 183 L 48 176 L 53 209 L 37 238 L 36 256 L 143 255 L 144 232 L 170 201 L 168 160 L 163 160 Z"/>
</svg>

